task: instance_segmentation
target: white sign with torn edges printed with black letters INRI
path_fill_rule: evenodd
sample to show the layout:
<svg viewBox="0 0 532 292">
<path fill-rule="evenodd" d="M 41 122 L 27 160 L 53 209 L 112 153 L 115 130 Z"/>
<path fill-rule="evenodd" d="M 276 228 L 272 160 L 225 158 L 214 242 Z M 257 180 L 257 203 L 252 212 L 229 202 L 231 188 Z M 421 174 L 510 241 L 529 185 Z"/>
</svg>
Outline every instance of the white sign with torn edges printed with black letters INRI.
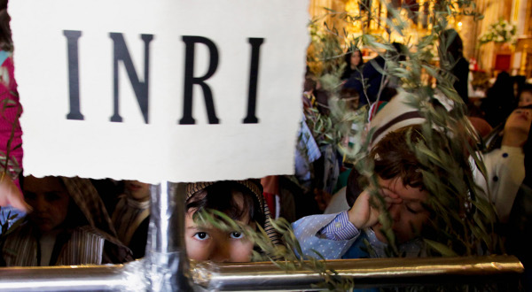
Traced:
<svg viewBox="0 0 532 292">
<path fill-rule="evenodd" d="M 307 0 L 10 1 L 24 173 L 293 173 Z"/>
</svg>

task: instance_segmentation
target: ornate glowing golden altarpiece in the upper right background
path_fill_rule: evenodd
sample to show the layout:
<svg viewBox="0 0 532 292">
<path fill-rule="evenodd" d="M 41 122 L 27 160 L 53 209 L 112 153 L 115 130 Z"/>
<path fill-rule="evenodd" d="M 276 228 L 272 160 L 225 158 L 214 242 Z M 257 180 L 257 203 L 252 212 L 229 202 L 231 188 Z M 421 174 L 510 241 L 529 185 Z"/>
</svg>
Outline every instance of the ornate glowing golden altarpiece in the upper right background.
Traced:
<svg viewBox="0 0 532 292">
<path fill-rule="evenodd" d="M 419 37 L 426 34 L 430 29 L 429 18 L 434 6 L 434 0 L 311 0 L 309 13 L 311 17 L 324 15 L 327 7 L 336 12 L 350 12 L 356 14 L 364 7 L 371 7 L 372 12 L 386 17 L 386 5 L 388 2 L 395 7 L 408 6 L 413 12 L 409 17 L 417 31 L 412 32 L 410 37 Z M 477 12 L 484 18 L 473 20 L 471 17 L 458 16 L 450 19 L 450 27 L 455 28 L 464 41 L 464 55 L 470 60 L 477 62 L 480 70 L 494 75 L 500 69 L 496 67 L 497 55 L 507 55 L 506 71 L 512 75 L 525 75 L 532 78 L 532 1 L 530 0 L 476 0 Z M 479 36 L 482 35 L 492 23 L 499 19 L 505 19 L 517 27 L 517 41 L 515 43 L 488 42 L 480 45 Z M 349 34 L 360 35 L 362 27 L 360 21 L 353 24 L 329 19 L 335 27 L 342 31 L 345 29 Z M 370 32 L 384 35 L 385 29 L 378 27 L 377 23 L 367 24 Z M 393 36 L 393 41 L 402 42 L 400 36 Z"/>
</svg>

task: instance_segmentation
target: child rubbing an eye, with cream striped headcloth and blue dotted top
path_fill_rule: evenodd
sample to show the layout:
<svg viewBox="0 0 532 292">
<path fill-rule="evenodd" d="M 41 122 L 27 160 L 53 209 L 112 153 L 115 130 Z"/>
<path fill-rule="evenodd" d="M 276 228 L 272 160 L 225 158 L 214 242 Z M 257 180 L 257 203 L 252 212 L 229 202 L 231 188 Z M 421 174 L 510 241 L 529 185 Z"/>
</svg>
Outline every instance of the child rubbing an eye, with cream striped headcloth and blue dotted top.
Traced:
<svg viewBox="0 0 532 292">
<path fill-rule="evenodd" d="M 376 180 L 359 188 L 362 192 L 350 210 L 309 216 L 293 223 L 304 255 L 316 257 L 316 250 L 327 259 L 386 257 L 391 244 L 396 247 L 391 250 L 398 255 L 424 256 L 428 250 L 421 235 L 431 238 L 441 235 L 433 234 L 434 225 L 441 223 L 439 220 L 443 216 L 433 210 L 434 204 L 455 208 L 455 212 L 465 208 L 462 197 L 462 201 L 457 197 L 456 202 L 442 203 L 438 198 L 440 194 L 436 196 L 429 192 L 431 188 L 428 187 L 434 186 L 426 185 L 424 174 L 441 179 L 445 186 L 450 186 L 450 179 L 445 176 L 442 166 L 427 167 L 419 161 L 416 148 L 419 144 L 426 144 L 424 134 L 430 132 L 438 141 L 438 151 L 453 159 L 461 159 L 452 164 L 457 167 L 458 176 L 469 173 L 467 161 L 460 155 L 462 151 L 456 156 L 451 153 L 450 146 L 445 144 L 449 139 L 441 129 L 423 129 L 426 119 L 410 105 L 407 95 L 400 92 L 370 123 L 369 160 L 374 165 Z M 434 108 L 447 109 L 445 104 L 435 104 Z M 379 196 L 373 196 L 376 192 Z M 369 243 L 369 249 L 366 243 Z"/>
</svg>

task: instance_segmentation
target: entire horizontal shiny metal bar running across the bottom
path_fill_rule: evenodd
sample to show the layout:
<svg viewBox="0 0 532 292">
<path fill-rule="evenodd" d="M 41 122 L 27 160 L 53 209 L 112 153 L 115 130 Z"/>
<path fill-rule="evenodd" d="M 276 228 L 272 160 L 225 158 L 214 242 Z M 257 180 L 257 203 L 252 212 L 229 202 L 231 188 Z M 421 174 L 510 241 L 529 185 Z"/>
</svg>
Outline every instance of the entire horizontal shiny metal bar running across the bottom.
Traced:
<svg viewBox="0 0 532 292">
<path fill-rule="evenodd" d="M 326 265 L 353 279 L 355 288 L 517 283 L 524 271 L 513 256 L 342 259 L 327 261 Z M 0 291 L 145 291 L 147 283 L 141 276 L 144 269 L 142 261 L 111 266 L 1 268 Z M 270 262 L 202 262 L 192 265 L 188 274 L 200 288 L 209 291 L 317 290 L 313 285 L 324 282 L 324 276 L 315 271 L 286 272 Z M 163 291 L 192 290 L 183 284 L 164 283 L 168 285 L 158 286 Z"/>
</svg>

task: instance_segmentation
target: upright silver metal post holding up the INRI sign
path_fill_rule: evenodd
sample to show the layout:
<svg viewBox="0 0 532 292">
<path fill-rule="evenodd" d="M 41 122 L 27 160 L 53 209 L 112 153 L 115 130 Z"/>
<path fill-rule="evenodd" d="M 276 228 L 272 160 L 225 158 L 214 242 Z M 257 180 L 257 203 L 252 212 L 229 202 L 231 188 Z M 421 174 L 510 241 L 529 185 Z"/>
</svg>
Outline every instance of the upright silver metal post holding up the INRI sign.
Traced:
<svg viewBox="0 0 532 292">
<path fill-rule="evenodd" d="M 184 246 L 184 184 L 152 186 L 150 227 L 145 260 L 152 291 L 190 291 Z"/>
</svg>

